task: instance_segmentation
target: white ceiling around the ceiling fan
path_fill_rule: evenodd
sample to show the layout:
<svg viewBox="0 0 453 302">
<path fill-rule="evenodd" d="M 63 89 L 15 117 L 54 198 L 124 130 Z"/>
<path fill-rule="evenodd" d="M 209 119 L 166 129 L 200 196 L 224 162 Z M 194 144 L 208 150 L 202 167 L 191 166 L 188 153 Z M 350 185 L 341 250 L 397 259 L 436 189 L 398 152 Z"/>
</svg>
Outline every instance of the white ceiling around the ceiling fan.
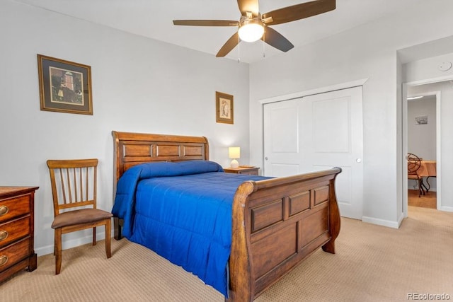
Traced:
<svg viewBox="0 0 453 302">
<path fill-rule="evenodd" d="M 128 33 L 150 37 L 193 50 L 217 54 L 235 27 L 176 26 L 173 19 L 219 19 L 239 21 L 236 0 L 16 0 Z M 336 10 L 318 16 L 274 25 L 294 47 L 335 35 L 349 28 L 389 16 L 425 0 L 337 0 Z M 260 13 L 292 6 L 306 0 L 260 0 Z M 291 52 L 292 50 L 289 50 Z M 265 57 L 284 54 L 269 45 Z M 263 59 L 263 42 L 241 42 L 226 58 L 241 62 Z"/>
</svg>

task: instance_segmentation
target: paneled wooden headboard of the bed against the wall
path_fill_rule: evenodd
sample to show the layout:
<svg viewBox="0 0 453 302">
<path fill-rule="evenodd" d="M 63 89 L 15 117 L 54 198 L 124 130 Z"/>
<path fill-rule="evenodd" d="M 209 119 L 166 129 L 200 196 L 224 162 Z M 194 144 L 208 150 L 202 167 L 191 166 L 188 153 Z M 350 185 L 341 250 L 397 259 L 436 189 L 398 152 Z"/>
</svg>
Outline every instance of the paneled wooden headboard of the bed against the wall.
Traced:
<svg viewBox="0 0 453 302">
<path fill-rule="evenodd" d="M 206 137 L 112 132 L 114 144 L 114 188 L 125 170 L 153 161 L 193 161 L 209 159 Z"/>
</svg>

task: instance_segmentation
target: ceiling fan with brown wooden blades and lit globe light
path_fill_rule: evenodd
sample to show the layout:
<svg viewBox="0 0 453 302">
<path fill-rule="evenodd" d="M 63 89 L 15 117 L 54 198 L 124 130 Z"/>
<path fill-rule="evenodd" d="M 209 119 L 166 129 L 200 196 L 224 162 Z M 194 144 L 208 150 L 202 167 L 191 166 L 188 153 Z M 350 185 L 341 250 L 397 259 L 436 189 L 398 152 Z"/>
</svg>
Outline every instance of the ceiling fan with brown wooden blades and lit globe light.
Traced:
<svg viewBox="0 0 453 302">
<path fill-rule="evenodd" d="M 268 45 L 287 52 L 292 45 L 287 38 L 283 37 L 270 25 L 277 25 L 297 21 L 303 18 L 333 11 L 336 8 L 336 0 L 314 0 L 293 6 L 276 9 L 261 14 L 258 9 L 258 0 L 238 0 L 241 18 L 239 21 L 229 20 L 173 20 L 174 25 L 190 26 L 238 26 L 238 31 L 217 52 L 216 57 L 225 57 L 226 54 L 239 44 L 240 40 L 255 42 L 263 40 Z M 240 40 L 239 40 L 240 39 Z"/>
</svg>

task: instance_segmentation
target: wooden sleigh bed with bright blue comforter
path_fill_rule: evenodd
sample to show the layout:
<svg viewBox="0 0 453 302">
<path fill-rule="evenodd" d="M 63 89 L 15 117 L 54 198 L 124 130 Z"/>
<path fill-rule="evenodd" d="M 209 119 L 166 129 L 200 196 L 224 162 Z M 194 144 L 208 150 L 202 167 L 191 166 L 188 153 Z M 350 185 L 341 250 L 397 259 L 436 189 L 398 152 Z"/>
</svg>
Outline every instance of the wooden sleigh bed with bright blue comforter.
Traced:
<svg viewBox="0 0 453 302">
<path fill-rule="evenodd" d="M 217 243 L 210 243 L 212 250 L 208 248 L 212 254 L 208 256 L 215 257 L 213 261 L 217 263 L 214 267 L 224 269 L 224 272 L 221 272 L 222 278 L 210 277 L 211 279 L 208 278 L 206 281 L 204 276 L 200 276 L 203 273 L 186 269 L 197 274 L 206 284 L 210 284 L 222 292 L 225 301 L 253 301 L 265 289 L 268 289 L 269 286 L 319 248 L 326 252 L 335 253 L 335 240 L 340 231 L 335 180 L 336 175 L 341 172 L 340 168 L 286 178 L 236 175 L 223 173 L 222 167 L 209 161 L 209 144 L 205 137 L 115 131 L 112 134 L 114 139 L 113 187 L 115 190 L 113 208 L 122 209 L 113 211 L 115 212 L 114 233 L 117 240 L 120 240 L 124 234 L 127 238 L 133 238 L 132 241 L 143 244 L 140 240 L 148 240 L 146 237 L 149 236 L 149 240 L 155 244 L 143 245 L 151 249 L 156 247 L 159 255 L 168 254 L 163 255 L 163 257 L 167 259 L 169 257 L 171 262 L 186 269 L 186 262 L 191 262 L 191 260 L 187 260 L 186 255 L 184 257 L 178 256 L 184 258 L 181 260 L 184 262 L 182 265 L 178 263 L 179 260 L 172 260 L 171 257 L 174 255 L 170 254 L 175 254 L 175 248 L 167 248 L 171 252 L 166 252 L 166 243 L 161 243 L 156 238 L 161 238 L 163 233 L 169 233 L 171 239 L 165 242 L 173 244 L 175 241 L 181 241 L 182 239 L 178 238 L 184 238 L 184 236 L 175 236 L 172 231 L 173 228 L 166 229 L 163 225 L 173 226 L 173 223 L 180 221 L 187 223 L 186 220 L 190 219 L 190 212 L 193 212 L 194 215 L 200 215 L 202 213 L 200 209 L 205 209 L 205 206 L 197 206 L 199 208 L 192 211 L 187 205 L 192 204 L 192 202 L 178 199 L 178 206 L 174 206 L 173 209 L 168 211 L 183 212 L 185 216 L 182 219 L 168 218 L 172 219 L 171 223 L 164 221 L 164 223 L 159 224 L 156 228 L 161 229 L 161 233 L 153 235 L 149 228 L 140 229 L 139 223 L 136 224 L 139 217 L 144 216 L 142 215 L 143 211 L 150 213 L 163 213 L 164 211 L 162 205 L 153 205 L 157 208 L 152 210 L 146 210 L 144 206 L 139 205 L 144 203 L 139 201 L 142 198 L 150 198 L 147 195 L 148 193 L 144 193 L 145 182 L 151 182 L 154 185 L 156 185 L 156 181 L 159 182 L 157 187 L 163 188 L 163 192 L 169 192 L 169 196 L 175 200 L 176 197 L 185 197 L 180 197 L 182 193 L 173 190 L 185 188 L 184 191 L 187 191 L 189 187 L 196 187 L 195 185 L 184 185 L 183 178 L 185 181 L 186 178 L 197 178 L 199 175 L 205 174 L 208 180 L 201 180 L 204 185 L 210 183 L 211 178 L 215 177 L 212 182 L 229 186 L 229 188 L 219 189 L 219 191 L 225 192 L 222 193 L 224 194 L 221 197 L 222 202 L 226 200 L 229 205 L 222 206 L 222 210 L 219 210 L 216 206 L 216 216 L 219 216 L 219 219 L 226 215 L 229 216 L 223 217 L 222 219 L 226 220 L 222 222 L 212 222 L 212 219 L 207 219 L 209 220 L 207 223 L 214 223 L 212 228 L 219 229 L 219 232 L 223 234 L 222 236 L 229 236 L 229 240 L 231 240 L 229 243 L 224 243 L 223 237 L 217 240 L 222 242 L 222 248 L 227 247 L 226 254 L 224 251 L 217 252 L 216 249 L 212 248 Z M 159 173 L 162 172 L 157 172 L 157 175 L 154 175 L 156 172 L 153 171 L 156 170 L 156 166 L 161 166 L 164 174 L 166 174 L 161 175 Z M 193 175 L 192 172 L 182 174 L 173 172 L 179 171 L 181 166 L 189 167 L 188 169 L 195 171 L 197 175 Z M 205 167 L 207 172 L 205 172 Z M 137 175 L 139 175 L 139 179 Z M 148 178 L 149 175 L 151 175 L 150 178 Z M 156 180 L 156 176 L 159 176 L 158 180 Z M 217 177 L 221 179 L 217 180 Z M 132 178 L 134 183 L 125 185 L 125 178 Z M 168 178 L 165 181 L 170 181 L 171 184 L 161 182 L 164 181 L 164 178 Z M 232 185 L 226 185 L 230 180 Z M 234 187 L 232 192 L 231 186 Z M 207 199 L 214 198 L 210 194 L 217 189 L 211 190 L 209 185 L 207 188 L 204 192 L 195 191 L 195 193 L 187 192 L 187 194 L 200 200 L 205 197 Z M 129 192 L 132 189 L 137 189 L 137 192 Z M 153 192 L 158 191 L 152 190 Z M 125 192 L 129 193 L 125 194 Z M 205 196 L 206 194 L 207 196 Z M 127 204 L 128 200 L 133 201 L 132 205 Z M 168 202 L 164 204 L 168 204 Z M 168 214 L 162 215 L 168 217 Z M 145 223 L 147 227 L 154 225 L 156 218 L 149 219 Z M 200 216 L 194 220 L 199 221 Z M 137 240 L 137 238 L 141 239 Z M 156 243 L 157 241 L 159 242 Z M 183 244 L 190 247 L 190 243 Z M 196 244 L 192 243 L 192 246 L 202 246 L 202 244 L 197 242 Z M 199 248 L 199 251 L 195 251 L 195 253 L 202 252 L 202 250 L 205 249 Z M 212 259 L 209 261 L 212 262 Z M 226 262 L 226 265 L 222 267 L 224 262 Z M 189 267 L 205 269 L 202 267 L 203 262 L 200 263 L 192 261 Z M 222 286 L 218 284 L 213 285 L 212 279 L 214 281 L 226 279 L 226 291 L 219 289 Z"/>
</svg>

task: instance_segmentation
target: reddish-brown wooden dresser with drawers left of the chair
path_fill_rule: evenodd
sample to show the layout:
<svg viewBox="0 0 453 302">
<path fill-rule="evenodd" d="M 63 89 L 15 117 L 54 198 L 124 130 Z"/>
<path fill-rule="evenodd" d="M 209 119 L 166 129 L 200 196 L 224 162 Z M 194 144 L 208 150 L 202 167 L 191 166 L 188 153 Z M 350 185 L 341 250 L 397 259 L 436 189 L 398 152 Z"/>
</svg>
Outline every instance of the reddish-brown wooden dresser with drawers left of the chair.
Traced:
<svg viewBox="0 0 453 302">
<path fill-rule="evenodd" d="M 0 282 L 37 266 L 34 197 L 38 187 L 0 187 Z"/>
</svg>

